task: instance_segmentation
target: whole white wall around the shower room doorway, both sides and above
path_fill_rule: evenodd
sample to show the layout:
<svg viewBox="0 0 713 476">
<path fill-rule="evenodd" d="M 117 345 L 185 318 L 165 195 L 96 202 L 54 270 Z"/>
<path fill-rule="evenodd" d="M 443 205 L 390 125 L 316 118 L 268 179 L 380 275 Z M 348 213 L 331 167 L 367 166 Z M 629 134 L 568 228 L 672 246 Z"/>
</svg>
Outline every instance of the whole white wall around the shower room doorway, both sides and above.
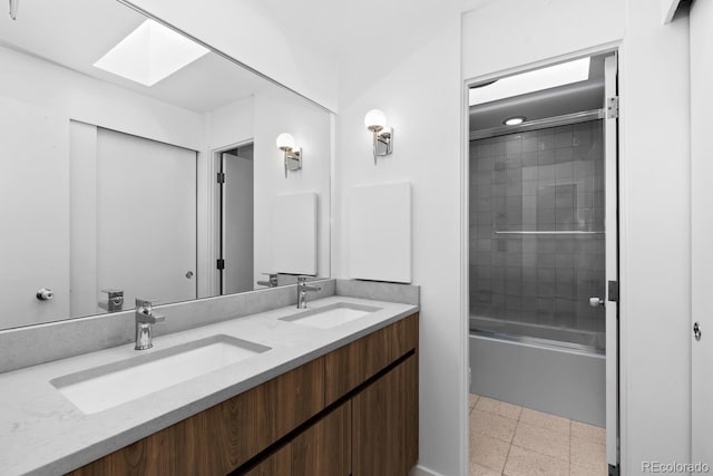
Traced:
<svg viewBox="0 0 713 476">
<path fill-rule="evenodd" d="M 397 2 L 411 18 L 413 8 Z M 461 82 L 622 42 L 623 455 L 625 474 L 644 458 L 688 457 L 688 201 L 686 19 L 664 27 L 661 3 L 647 0 L 499 0 L 463 17 L 419 3 L 427 29 L 404 46 L 403 23 L 389 29 L 388 55 L 352 45 L 340 64 L 335 263 L 348 275 L 345 197 L 351 186 L 413 182 L 413 282 L 421 303 L 420 463 L 440 474 L 466 464 L 466 326 L 460 299 L 459 193 Z M 399 17 L 401 14 L 401 17 Z M 389 22 L 385 19 L 384 22 Z M 416 28 L 413 28 L 416 29 Z M 497 38 L 497 41 L 494 41 Z M 511 39 L 510 39 L 511 38 Z M 510 40 L 508 40 L 510 39 Z M 382 43 L 383 45 L 383 43 Z M 462 46 L 462 62 L 458 51 Z M 462 71 L 460 68 L 462 67 Z M 666 114 L 660 98 L 666 97 Z M 374 167 L 364 113 L 383 109 L 395 152 Z M 665 191 L 665 193 L 662 193 Z M 664 216 L 662 216 L 664 213 Z M 462 243 L 460 243 L 462 245 Z M 465 290 L 465 288 L 462 288 Z M 665 300 L 652 300 L 666 295 Z M 682 323 L 672 330 L 672 322 Z M 644 336 L 644 338 L 642 338 Z M 663 349 L 666 349 L 663 351 Z M 653 365 L 652 365 L 653 362 Z M 658 378 L 656 378 L 658 376 Z M 661 381 L 672 381 L 662 392 Z M 662 395 L 663 394 L 663 395 Z M 654 398 L 655 396 L 655 398 Z"/>
</svg>

